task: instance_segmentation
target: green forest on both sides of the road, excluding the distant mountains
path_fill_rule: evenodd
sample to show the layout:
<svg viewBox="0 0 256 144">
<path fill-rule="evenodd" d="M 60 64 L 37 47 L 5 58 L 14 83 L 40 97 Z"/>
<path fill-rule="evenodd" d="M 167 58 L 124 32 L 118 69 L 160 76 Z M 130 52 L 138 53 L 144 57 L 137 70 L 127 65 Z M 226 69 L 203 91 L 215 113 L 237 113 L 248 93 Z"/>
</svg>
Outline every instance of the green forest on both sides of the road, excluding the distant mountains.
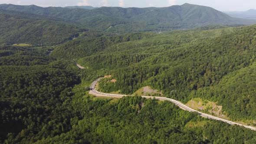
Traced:
<svg viewBox="0 0 256 144">
<path fill-rule="evenodd" d="M 132 94 L 149 85 L 184 103 L 215 101 L 231 120 L 253 121 L 255 29 L 93 31 L 58 46 L 0 46 L 0 142 L 255 143 L 255 131 L 170 101 L 88 94 L 93 80 L 112 75 L 99 83 L 100 91 Z"/>
</svg>

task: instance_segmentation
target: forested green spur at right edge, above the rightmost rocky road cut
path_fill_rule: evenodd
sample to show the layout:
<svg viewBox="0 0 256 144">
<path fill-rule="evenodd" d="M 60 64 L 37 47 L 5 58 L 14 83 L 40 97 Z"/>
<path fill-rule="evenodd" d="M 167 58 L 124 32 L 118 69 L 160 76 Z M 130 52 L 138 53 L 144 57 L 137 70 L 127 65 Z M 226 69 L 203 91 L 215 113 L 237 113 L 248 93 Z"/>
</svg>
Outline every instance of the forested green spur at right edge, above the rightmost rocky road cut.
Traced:
<svg viewBox="0 0 256 144">
<path fill-rule="evenodd" d="M 230 118 L 255 120 L 255 71 L 256 63 L 253 62 L 248 67 L 226 75 L 218 85 L 200 88 L 195 95 L 206 99 L 217 99 L 220 105 L 224 105 L 223 110 Z"/>
</svg>

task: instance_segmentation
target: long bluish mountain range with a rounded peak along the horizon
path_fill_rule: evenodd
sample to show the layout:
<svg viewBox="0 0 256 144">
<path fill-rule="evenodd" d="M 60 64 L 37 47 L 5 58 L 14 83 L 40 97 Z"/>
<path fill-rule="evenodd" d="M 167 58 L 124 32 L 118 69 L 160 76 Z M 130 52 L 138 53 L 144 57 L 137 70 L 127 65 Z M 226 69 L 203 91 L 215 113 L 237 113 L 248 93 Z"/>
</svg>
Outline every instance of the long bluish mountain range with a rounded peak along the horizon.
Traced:
<svg viewBox="0 0 256 144">
<path fill-rule="evenodd" d="M 0 9 L 22 11 L 41 16 L 57 17 L 89 29 L 115 33 L 187 29 L 210 24 L 253 24 L 254 20 L 233 18 L 210 7 L 185 3 L 181 6 L 121 8 L 81 8 L 17 6 L 2 4 Z"/>
</svg>

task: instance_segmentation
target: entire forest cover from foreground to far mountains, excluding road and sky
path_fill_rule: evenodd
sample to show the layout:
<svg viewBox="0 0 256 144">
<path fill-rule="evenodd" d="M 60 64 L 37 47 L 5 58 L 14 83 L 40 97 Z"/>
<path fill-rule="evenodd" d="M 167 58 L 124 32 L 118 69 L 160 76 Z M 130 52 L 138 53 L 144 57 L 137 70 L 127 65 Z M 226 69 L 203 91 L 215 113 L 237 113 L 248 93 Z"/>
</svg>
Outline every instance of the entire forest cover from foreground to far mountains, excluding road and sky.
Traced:
<svg viewBox="0 0 256 144">
<path fill-rule="evenodd" d="M 164 19 L 179 13 L 164 13 L 175 8 L 191 15 L 167 25 Z M 191 18 L 200 11 L 207 14 Z M 205 16 L 227 21 L 204 25 Z M 0 144 L 256 143 L 251 129 L 138 96 L 148 87 L 184 104 L 210 101 L 221 115 L 211 113 L 216 105 L 199 111 L 256 127 L 256 25 L 236 22 L 190 4 L 92 10 L 0 4 Z M 202 25 L 185 29 L 190 23 Z M 89 94 L 99 78 L 99 92 L 131 96 Z"/>
</svg>

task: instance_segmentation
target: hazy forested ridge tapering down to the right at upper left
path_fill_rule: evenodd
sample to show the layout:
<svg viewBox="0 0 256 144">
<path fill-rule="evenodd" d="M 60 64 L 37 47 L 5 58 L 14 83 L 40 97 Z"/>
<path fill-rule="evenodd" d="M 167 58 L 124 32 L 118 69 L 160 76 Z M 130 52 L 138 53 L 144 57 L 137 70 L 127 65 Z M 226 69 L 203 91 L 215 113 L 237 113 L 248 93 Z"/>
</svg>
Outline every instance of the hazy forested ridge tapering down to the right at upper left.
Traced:
<svg viewBox="0 0 256 144">
<path fill-rule="evenodd" d="M 57 18 L 0 10 L 0 44 L 56 45 L 73 39 L 82 31 Z"/>
</svg>

